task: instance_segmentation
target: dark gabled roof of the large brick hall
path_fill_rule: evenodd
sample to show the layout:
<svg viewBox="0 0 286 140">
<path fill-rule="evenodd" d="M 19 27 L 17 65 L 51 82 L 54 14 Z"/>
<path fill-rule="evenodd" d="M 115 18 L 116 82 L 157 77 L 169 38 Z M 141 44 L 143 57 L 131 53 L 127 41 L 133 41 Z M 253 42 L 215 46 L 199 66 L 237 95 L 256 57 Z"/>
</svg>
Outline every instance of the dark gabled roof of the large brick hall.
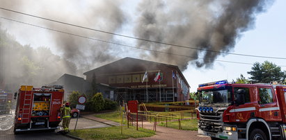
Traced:
<svg viewBox="0 0 286 140">
<path fill-rule="evenodd" d="M 160 63 L 160 62 L 152 62 L 152 61 L 148 61 L 148 60 L 140 60 L 140 59 L 136 59 L 136 58 L 128 58 L 128 57 L 122 58 L 122 59 L 117 60 L 115 62 L 111 62 L 109 64 L 105 64 L 105 65 L 98 67 L 96 69 L 86 71 L 84 73 L 84 75 L 87 76 L 89 73 L 104 73 L 106 71 L 106 69 L 109 69 L 109 71 L 112 70 L 114 73 L 116 73 L 117 71 L 120 71 L 121 69 L 126 69 L 127 65 L 130 66 L 129 69 L 132 69 L 132 66 L 138 66 L 138 65 L 140 65 L 142 67 L 146 67 L 146 69 L 152 69 L 152 68 L 154 69 L 158 64 L 165 65 L 166 67 L 174 67 L 175 69 L 177 69 L 178 73 L 180 73 L 180 75 L 182 76 L 182 78 L 186 82 L 186 85 L 188 87 L 190 87 L 189 83 L 184 78 L 184 75 L 182 74 L 179 67 L 177 67 L 175 65 L 164 64 L 164 63 Z"/>
</svg>

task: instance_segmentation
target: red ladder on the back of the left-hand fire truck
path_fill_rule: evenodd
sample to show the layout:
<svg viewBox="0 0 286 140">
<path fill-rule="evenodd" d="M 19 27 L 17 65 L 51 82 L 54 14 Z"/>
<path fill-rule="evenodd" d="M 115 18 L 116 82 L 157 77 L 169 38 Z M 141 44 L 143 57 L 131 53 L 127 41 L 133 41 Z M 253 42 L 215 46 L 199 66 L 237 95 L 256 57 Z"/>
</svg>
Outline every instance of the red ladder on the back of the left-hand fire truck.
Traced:
<svg viewBox="0 0 286 140">
<path fill-rule="evenodd" d="M 33 95 L 33 86 L 22 86 L 21 89 L 24 88 L 25 89 L 25 94 L 24 94 L 24 103 L 23 103 L 23 113 L 22 113 L 22 121 L 21 123 L 29 123 L 30 119 L 31 119 L 31 106 L 32 106 L 32 95 Z M 31 124 L 30 124 L 30 128 L 31 128 Z"/>
</svg>

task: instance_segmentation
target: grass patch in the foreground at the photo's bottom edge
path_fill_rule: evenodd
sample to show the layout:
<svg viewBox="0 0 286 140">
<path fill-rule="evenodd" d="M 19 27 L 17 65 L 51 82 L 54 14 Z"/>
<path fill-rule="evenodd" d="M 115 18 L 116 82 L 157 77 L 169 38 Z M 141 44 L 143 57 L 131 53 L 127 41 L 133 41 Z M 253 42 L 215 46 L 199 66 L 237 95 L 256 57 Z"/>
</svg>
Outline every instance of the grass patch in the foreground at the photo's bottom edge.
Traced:
<svg viewBox="0 0 286 140">
<path fill-rule="evenodd" d="M 129 138 L 141 138 L 141 137 L 152 137 L 155 132 L 152 130 L 138 128 L 136 131 L 135 127 L 123 126 L 122 134 L 120 126 L 113 126 L 110 128 L 93 128 L 86 130 L 72 130 L 70 134 L 81 139 L 129 139 Z"/>
</svg>

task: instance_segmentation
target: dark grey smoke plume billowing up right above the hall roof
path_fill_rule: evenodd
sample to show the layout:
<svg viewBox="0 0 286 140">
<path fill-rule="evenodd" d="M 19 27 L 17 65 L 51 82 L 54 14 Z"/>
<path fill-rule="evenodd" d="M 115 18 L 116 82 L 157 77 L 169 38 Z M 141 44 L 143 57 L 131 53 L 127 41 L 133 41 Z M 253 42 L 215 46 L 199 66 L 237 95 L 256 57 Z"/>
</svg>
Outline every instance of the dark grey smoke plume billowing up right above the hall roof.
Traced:
<svg viewBox="0 0 286 140">
<path fill-rule="evenodd" d="M 263 12 L 269 3 L 272 1 L 141 1 L 134 34 L 147 40 L 229 52 L 241 33 L 253 27 L 257 13 Z M 197 67 L 212 67 L 214 60 L 222 55 L 144 41 L 139 41 L 138 46 L 189 56 L 142 54 L 145 58 L 151 55 L 153 60 L 177 64 L 183 70 L 189 61 Z"/>
</svg>

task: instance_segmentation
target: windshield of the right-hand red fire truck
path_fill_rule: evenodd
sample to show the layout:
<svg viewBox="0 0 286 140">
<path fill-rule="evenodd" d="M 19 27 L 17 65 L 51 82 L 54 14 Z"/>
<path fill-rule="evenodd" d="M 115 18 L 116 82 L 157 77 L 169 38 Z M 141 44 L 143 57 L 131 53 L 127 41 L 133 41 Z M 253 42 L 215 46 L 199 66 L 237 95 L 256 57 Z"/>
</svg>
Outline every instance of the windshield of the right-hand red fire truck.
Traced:
<svg viewBox="0 0 286 140">
<path fill-rule="evenodd" d="M 210 89 L 199 91 L 200 103 L 203 104 L 230 104 L 232 94 L 230 89 Z"/>
</svg>

